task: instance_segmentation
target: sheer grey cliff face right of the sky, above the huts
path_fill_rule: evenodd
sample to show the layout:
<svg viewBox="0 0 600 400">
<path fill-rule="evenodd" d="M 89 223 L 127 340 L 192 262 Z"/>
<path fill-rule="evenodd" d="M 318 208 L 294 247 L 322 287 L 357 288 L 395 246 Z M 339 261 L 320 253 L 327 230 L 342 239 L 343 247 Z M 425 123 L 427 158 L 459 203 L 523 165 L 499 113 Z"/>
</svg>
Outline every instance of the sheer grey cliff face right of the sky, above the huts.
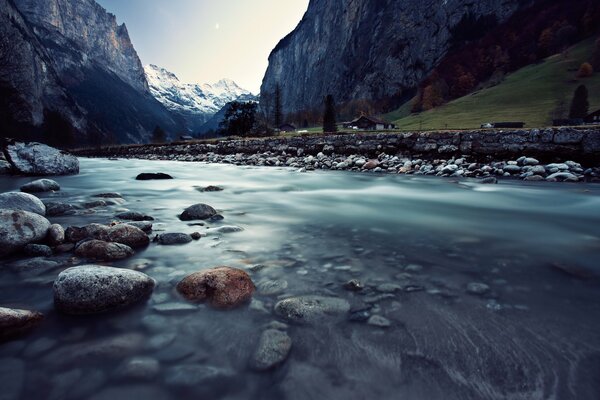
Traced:
<svg viewBox="0 0 600 400">
<path fill-rule="evenodd" d="M 503 21 L 519 0 L 311 0 L 296 29 L 269 56 L 261 104 L 281 88 L 285 113 L 410 93 L 452 44 L 467 16 Z M 268 106 L 267 106 L 268 107 Z"/>
</svg>

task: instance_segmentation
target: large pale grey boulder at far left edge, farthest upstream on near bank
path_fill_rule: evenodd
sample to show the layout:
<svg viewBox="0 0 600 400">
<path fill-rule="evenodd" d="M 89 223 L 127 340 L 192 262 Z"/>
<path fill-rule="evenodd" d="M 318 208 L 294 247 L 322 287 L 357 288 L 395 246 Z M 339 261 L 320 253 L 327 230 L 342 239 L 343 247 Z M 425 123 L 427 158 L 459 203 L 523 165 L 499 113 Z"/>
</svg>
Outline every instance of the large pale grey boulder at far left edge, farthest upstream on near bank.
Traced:
<svg viewBox="0 0 600 400">
<path fill-rule="evenodd" d="M 6 147 L 9 161 L 25 175 L 71 175 L 79 173 L 79 160 L 69 153 L 41 143 L 15 143 Z"/>
</svg>

